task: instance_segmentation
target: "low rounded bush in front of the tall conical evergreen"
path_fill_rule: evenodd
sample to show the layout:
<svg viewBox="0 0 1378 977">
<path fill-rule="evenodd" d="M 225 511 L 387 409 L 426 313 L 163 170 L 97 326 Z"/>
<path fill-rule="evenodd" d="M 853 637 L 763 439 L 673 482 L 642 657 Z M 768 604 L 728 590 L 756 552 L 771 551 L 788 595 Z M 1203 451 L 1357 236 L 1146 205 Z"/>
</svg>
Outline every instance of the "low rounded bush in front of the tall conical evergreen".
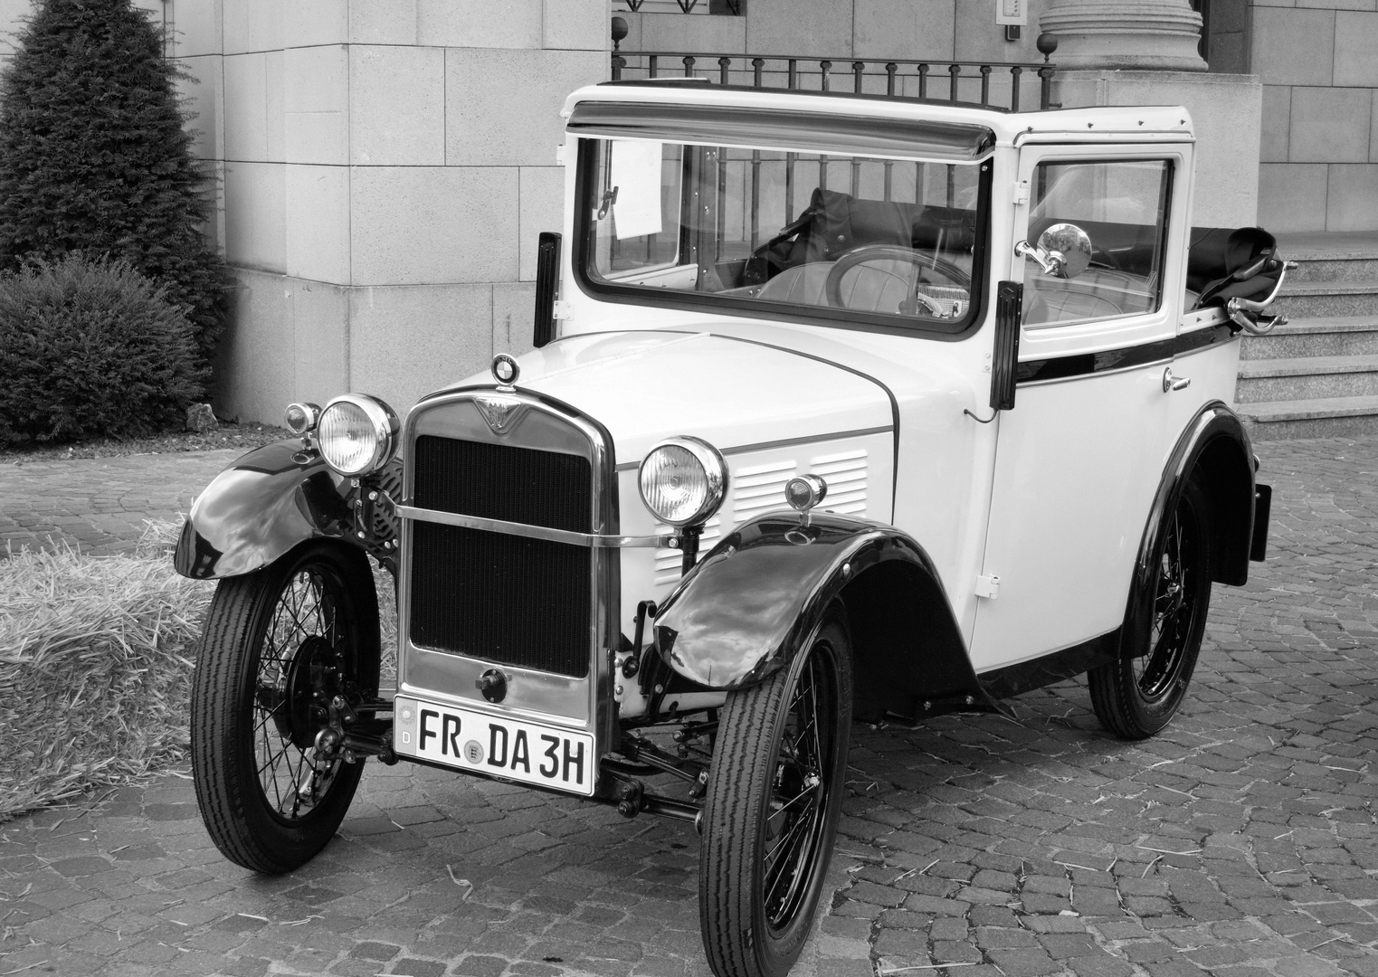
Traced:
<svg viewBox="0 0 1378 977">
<path fill-rule="evenodd" d="M 0 274 L 0 444 L 149 434 L 204 395 L 192 325 L 124 262 Z"/>
</svg>

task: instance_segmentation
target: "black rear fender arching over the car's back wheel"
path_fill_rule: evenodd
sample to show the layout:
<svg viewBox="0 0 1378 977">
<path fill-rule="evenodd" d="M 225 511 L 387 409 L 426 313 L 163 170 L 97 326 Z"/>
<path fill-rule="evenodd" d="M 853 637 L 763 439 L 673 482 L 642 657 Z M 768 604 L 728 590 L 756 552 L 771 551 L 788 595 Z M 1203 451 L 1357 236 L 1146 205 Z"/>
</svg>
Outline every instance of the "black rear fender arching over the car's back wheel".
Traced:
<svg viewBox="0 0 1378 977">
<path fill-rule="evenodd" d="M 1254 481 L 1254 451 L 1239 415 L 1213 401 L 1196 412 L 1177 438 L 1153 493 L 1120 631 L 1120 655 L 1124 657 L 1148 650 L 1158 543 L 1182 489 L 1197 473 L 1211 500 L 1210 531 L 1215 554 L 1211 580 L 1244 584 L 1248 582 L 1250 558 L 1262 558 L 1261 544 L 1254 543 L 1254 520 L 1266 522 L 1269 489 Z"/>
</svg>

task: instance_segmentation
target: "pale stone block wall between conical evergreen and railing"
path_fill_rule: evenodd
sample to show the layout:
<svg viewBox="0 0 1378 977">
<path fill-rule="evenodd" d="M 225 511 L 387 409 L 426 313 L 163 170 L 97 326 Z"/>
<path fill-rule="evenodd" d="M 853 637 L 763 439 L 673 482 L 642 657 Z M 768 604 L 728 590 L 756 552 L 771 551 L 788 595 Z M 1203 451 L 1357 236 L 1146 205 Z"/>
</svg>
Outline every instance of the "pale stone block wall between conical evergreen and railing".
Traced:
<svg viewBox="0 0 1378 977">
<path fill-rule="evenodd" d="M 344 390 L 405 411 L 529 346 L 558 112 L 608 77 L 608 0 L 157 6 L 238 277 L 219 413 Z"/>
</svg>

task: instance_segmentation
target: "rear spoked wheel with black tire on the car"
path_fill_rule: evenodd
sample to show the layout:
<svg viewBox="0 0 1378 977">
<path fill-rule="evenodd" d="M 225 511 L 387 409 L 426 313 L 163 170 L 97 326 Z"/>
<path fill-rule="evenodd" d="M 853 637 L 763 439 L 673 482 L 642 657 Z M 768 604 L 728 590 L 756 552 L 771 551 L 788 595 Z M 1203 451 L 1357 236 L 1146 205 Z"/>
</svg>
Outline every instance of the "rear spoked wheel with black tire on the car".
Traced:
<svg viewBox="0 0 1378 977">
<path fill-rule="evenodd" d="M 1191 480 L 1153 544 L 1156 573 L 1148 639 L 1141 642 L 1145 652 L 1087 675 L 1096 715 L 1122 739 L 1142 740 L 1159 732 L 1186 696 L 1210 609 L 1209 513 L 1210 499 Z M 1134 624 L 1126 620 L 1126 627 Z"/>
</svg>

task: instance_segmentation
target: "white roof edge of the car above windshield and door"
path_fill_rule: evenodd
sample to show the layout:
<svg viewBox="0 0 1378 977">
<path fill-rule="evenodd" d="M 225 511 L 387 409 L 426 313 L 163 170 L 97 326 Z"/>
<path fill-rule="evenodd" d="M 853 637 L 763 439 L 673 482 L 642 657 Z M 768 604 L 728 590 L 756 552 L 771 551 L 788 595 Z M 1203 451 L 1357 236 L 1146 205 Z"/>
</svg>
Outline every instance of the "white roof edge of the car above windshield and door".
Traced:
<svg viewBox="0 0 1378 977">
<path fill-rule="evenodd" d="M 751 88 L 712 84 L 707 79 L 608 81 L 587 85 L 565 99 L 568 120 L 580 102 L 695 105 L 723 109 L 779 110 L 872 117 L 878 121 L 934 121 L 989 128 L 999 146 L 1024 142 L 1193 142 L 1192 117 L 1182 106 L 1096 106 L 1010 112 L 998 106 L 854 92 Z"/>
</svg>

